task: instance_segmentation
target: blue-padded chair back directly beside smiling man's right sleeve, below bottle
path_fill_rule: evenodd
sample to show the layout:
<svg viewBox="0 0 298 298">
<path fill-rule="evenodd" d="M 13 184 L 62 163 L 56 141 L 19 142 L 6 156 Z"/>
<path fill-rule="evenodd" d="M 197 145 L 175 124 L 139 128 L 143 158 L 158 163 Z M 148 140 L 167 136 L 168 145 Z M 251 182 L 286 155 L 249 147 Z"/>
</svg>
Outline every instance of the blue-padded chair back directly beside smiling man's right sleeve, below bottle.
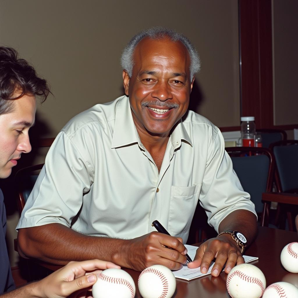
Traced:
<svg viewBox="0 0 298 298">
<path fill-rule="evenodd" d="M 267 148 L 228 147 L 233 169 L 236 172 L 243 190 L 248 192 L 261 216 L 263 211 L 262 193 L 271 191 L 274 176 L 274 156 Z"/>
</svg>

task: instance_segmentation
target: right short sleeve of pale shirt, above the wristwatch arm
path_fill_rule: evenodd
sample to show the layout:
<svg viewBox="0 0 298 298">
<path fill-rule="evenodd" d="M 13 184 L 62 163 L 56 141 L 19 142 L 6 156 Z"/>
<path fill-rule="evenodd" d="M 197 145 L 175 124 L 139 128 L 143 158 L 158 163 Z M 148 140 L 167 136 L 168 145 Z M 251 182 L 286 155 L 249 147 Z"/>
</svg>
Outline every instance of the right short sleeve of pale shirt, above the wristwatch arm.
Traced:
<svg viewBox="0 0 298 298">
<path fill-rule="evenodd" d="M 208 147 L 199 199 L 207 213 L 208 224 L 217 232 L 221 221 L 235 210 L 245 209 L 256 215 L 250 195 L 243 191 L 233 170 L 232 160 L 224 150 L 224 139 L 220 131 L 213 136 Z"/>
</svg>

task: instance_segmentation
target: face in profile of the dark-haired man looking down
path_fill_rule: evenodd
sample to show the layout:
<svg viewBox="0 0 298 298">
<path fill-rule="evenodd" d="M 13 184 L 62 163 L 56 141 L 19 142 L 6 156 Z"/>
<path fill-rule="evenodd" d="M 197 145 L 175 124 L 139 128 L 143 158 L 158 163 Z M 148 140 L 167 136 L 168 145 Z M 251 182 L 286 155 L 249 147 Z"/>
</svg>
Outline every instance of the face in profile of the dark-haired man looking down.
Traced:
<svg viewBox="0 0 298 298">
<path fill-rule="evenodd" d="M 28 132 L 35 121 L 35 96 L 23 95 L 11 104 L 11 111 L 0 115 L 0 178 L 7 178 L 21 154 L 31 151 Z"/>
</svg>

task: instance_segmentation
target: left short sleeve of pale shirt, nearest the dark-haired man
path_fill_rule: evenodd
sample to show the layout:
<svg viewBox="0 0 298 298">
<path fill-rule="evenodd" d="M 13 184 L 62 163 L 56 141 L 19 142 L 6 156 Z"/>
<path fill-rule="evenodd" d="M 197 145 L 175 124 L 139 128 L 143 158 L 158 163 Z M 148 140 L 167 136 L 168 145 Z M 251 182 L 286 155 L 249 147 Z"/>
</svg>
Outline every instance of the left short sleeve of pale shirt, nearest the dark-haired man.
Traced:
<svg viewBox="0 0 298 298">
<path fill-rule="evenodd" d="M 82 133 L 82 135 L 84 135 Z M 94 170 L 84 139 L 60 132 L 46 156 L 16 229 L 60 223 L 70 227 L 80 211 Z"/>
</svg>

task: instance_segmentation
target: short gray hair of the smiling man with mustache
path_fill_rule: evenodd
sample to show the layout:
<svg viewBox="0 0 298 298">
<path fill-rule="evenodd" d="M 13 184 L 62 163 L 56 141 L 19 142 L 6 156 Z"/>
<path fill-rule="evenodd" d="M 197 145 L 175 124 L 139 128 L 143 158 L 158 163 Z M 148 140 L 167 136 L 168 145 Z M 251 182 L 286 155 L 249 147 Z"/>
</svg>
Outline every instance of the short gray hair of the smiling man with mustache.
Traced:
<svg viewBox="0 0 298 298">
<path fill-rule="evenodd" d="M 132 69 L 134 66 L 134 49 L 137 44 L 145 37 L 149 37 L 153 40 L 162 39 L 164 37 L 169 38 L 171 41 L 181 41 L 187 48 L 190 55 L 190 79 L 200 70 L 200 58 L 190 40 L 184 35 L 166 27 L 152 27 L 142 30 L 136 34 L 127 44 L 121 55 L 121 66 L 128 72 L 128 75 L 132 76 Z"/>
</svg>

